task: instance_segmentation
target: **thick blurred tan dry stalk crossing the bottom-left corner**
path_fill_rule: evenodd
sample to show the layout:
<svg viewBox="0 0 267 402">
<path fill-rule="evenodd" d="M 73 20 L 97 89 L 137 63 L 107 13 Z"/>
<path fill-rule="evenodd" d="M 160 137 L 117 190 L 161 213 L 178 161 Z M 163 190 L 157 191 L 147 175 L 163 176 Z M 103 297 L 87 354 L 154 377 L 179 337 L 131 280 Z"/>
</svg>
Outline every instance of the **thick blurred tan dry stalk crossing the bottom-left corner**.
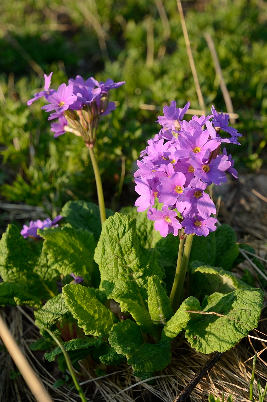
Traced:
<svg viewBox="0 0 267 402">
<path fill-rule="evenodd" d="M 40 380 L 30 367 L 28 361 L 22 355 L 18 345 L 10 335 L 8 328 L 0 315 L 0 337 L 6 346 L 6 349 L 10 353 L 10 356 L 16 363 L 20 373 L 24 377 L 28 387 L 30 388 L 32 394 L 35 396 L 38 402 L 52 402 L 52 399 L 47 394 Z"/>
</svg>

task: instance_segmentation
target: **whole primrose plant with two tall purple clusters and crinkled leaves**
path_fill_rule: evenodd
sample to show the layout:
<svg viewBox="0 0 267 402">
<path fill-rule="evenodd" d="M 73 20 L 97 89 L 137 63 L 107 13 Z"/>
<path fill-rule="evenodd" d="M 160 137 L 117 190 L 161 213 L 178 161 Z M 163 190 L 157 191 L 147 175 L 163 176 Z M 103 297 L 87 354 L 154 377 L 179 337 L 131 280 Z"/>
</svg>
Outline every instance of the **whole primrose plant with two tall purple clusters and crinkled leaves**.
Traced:
<svg viewBox="0 0 267 402">
<path fill-rule="evenodd" d="M 42 338 L 31 349 L 57 358 L 62 371 L 67 363 L 55 337 L 77 369 L 91 355 L 92 370 L 127 361 L 141 379 L 171 362 L 172 340 L 182 331 L 202 353 L 234 347 L 257 327 L 263 292 L 253 278 L 231 273 L 244 259 L 239 247 L 249 246 L 237 244 L 230 226 L 216 229 L 206 192 L 224 183 L 227 171 L 237 177 L 231 156 L 220 153 L 222 142 L 238 144 L 229 116 L 212 108 L 188 122 L 189 103 L 164 107 L 163 127 L 137 162 L 138 208 L 114 213 L 105 209 L 93 147 L 100 117 L 115 108 L 109 90 L 123 82 L 77 76 L 56 91 L 50 79 L 28 103 L 44 96 L 49 119 L 59 119 L 51 125 L 55 136 L 71 132 L 84 140 L 99 207 L 69 201 L 53 221 L 30 222 L 21 233 L 8 225 L 0 240 L 0 305 L 34 309 Z"/>
</svg>

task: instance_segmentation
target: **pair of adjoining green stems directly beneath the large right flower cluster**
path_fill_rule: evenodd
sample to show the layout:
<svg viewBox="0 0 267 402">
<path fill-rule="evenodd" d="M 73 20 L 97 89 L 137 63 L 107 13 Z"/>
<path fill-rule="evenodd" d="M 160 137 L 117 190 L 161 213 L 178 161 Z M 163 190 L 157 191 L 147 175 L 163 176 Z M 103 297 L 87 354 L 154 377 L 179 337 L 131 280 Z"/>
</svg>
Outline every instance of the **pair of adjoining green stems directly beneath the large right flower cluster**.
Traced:
<svg viewBox="0 0 267 402">
<path fill-rule="evenodd" d="M 174 277 L 175 285 L 173 285 L 172 292 L 170 295 L 170 303 L 174 312 L 176 312 L 180 306 L 182 291 L 184 289 L 184 279 L 188 267 L 188 261 L 193 242 L 193 236 L 194 236 L 193 234 L 188 234 L 186 236 L 185 245 L 183 244 L 184 243 L 183 240 L 180 240 L 176 273 Z M 184 252 L 182 252 L 183 248 Z"/>
</svg>

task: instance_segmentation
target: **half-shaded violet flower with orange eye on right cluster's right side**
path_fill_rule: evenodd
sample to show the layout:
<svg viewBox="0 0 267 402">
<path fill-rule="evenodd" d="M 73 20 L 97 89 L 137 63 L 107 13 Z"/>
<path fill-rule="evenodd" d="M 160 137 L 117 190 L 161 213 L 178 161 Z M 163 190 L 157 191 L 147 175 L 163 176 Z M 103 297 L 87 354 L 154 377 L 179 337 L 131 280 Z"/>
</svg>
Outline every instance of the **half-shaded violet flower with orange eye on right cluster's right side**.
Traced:
<svg viewBox="0 0 267 402">
<path fill-rule="evenodd" d="M 193 166 L 194 175 L 206 183 L 226 183 L 227 178 L 225 170 L 231 166 L 231 162 L 227 159 L 227 155 L 217 155 L 215 159 L 209 162 L 210 151 L 207 150 L 202 160 L 198 159 L 194 152 L 189 152 L 190 163 Z"/>
</svg>

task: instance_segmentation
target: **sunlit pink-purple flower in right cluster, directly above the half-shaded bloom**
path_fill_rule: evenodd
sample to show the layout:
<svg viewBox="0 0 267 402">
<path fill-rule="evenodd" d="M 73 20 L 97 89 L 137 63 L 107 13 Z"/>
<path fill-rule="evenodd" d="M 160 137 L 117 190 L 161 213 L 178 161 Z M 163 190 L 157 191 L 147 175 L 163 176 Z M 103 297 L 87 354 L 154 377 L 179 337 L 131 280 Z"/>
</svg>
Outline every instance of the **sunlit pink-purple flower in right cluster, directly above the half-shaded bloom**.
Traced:
<svg viewBox="0 0 267 402">
<path fill-rule="evenodd" d="M 209 135 L 208 130 L 202 131 L 201 127 L 198 127 L 193 135 L 186 137 L 179 135 L 177 142 L 181 149 L 177 150 L 174 155 L 180 159 L 185 159 L 189 157 L 189 152 L 192 151 L 197 154 L 199 159 L 202 159 L 207 149 L 213 151 L 220 145 L 219 142 L 208 139 Z"/>
</svg>

